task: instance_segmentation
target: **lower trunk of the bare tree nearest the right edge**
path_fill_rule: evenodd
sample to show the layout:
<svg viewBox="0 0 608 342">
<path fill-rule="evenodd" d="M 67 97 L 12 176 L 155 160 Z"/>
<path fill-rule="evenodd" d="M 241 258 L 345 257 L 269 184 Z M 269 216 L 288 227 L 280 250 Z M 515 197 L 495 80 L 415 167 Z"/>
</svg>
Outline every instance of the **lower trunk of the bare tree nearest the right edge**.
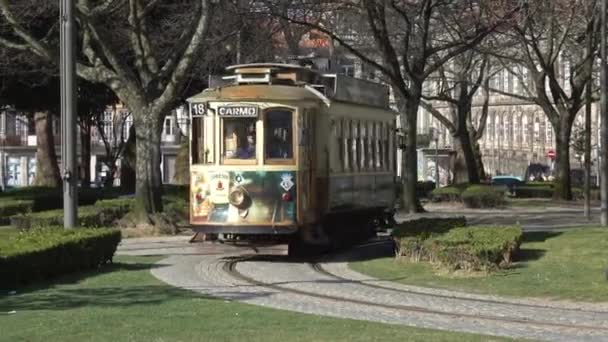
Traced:
<svg viewBox="0 0 608 342">
<path fill-rule="evenodd" d="M 562 122 L 560 130 L 555 134 L 557 158 L 555 160 L 556 179 L 553 197 L 562 200 L 572 200 L 570 179 L 570 136 L 572 125 Z"/>
</svg>

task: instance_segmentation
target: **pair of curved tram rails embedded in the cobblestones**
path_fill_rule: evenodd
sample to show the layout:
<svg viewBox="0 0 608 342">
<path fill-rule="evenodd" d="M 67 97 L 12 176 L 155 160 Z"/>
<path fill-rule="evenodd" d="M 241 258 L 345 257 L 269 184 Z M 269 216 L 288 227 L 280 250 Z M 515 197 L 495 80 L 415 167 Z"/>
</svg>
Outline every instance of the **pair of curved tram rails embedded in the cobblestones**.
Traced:
<svg viewBox="0 0 608 342">
<path fill-rule="evenodd" d="M 316 293 L 316 292 L 312 292 L 312 291 L 308 291 L 308 290 L 294 289 L 294 288 L 290 288 L 290 287 L 279 285 L 279 284 L 260 281 L 260 280 L 254 279 L 250 276 L 247 276 L 237 270 L 238 263 L 252 261 L 253 258 L 254 258 L 254 256 L 241 256 L 241 257 L 237 257 L 233 260 L 228 260 L 222 266 L 223 271 L 225 273 L 227 273 L 229 276 L 233 277 L 234 279 L 245 282 L 246 284 L 248 284 L 250 286 L 263 287 L 263 288 L 267 288 L 267 289 L 272 289 L 277 292 L 295 294 L 295 295 L 306 296 L 306 297 L 310 297 L 310 298 L 314 298 L 314 299 L 328 300 L 328 301 L 333 301 L 333 302 L 338 302 L 338 303 L 349 303 L 349 304 L 373 307 L 373 308 L 378 308 L 378 309 L 396 310 L 401 313 L 437 315 L 437 316 L 450 318 L 450 319 L 457 319 L 457 320 L 462 320 L 462 319 L 482 320 L 482 321 L 486 321 L 486 322 L 498 323 L 499 325 L 504 324 L 504 323 L 510 323 L 510 324 L 525 325 L 526 327 L 536 326 L 536 327 L 545 328 L 545 329 L 546 328 L 554 328 L 554 329 L 558 328 L 558 329 L 596 331 L 596 332 L 601 332 L 601 333 L 608 332 L 608 327 L 592 326 L 592 325 L 585 325 L 585 324 L 558 323 L 558 322 L 549 322 L 549 321 L 535 320 L 535 319 L 505 317 L 505 316 L 499 316 L 499 315 L 456 313 L 456 312 L 448 312 L 448 311 L 437 310 L 437 309 L 432 309 L 432 308 L 424 308 L 424 307 L 413 306 L 413 305 L 377 303 L 377 302 L 373 302 L 373 301 L 349 298 L 349 297 L 345 297 L 345 296 L 336 296 L 336 295 L 331 295 L 331 294 Z M 344 279 L 342 277 L 333 275 L 331 272 L 328 272 L 327 270 L 323 269 L 322 267 L 315 266 L 315 265 L 319 265 L 319 264 L 318 263 L 310 264 L 311 268 L 315 272 L 317 272 L 323 276 L 326 276 L 326 277 L 330 276 L 334 279 Z M 369 286 L 364 283 L 360 284 L 360 285 Z M 377 288 L 377 289 L 395 291 L 395 289 L 387 288 L 384 286 L 371 286 L 371 287 Z M 405 294 L 418 294 L 418 295 L 424 295 L 424 296 L 434 296 L 434 295 L 431 295 L 428 293 L 422 293 L 422 292 L 416 293 L 413 291 L 408 292 L 408 291 L 397 290 L 397 292 L 402 292 Z M 441 296 L 437 296 L 437 297 L 442 298 Z M 465 300 L 470 300 L 471 302 L 476 301 L 475 299 L 471 299 L 471 298 L 459 298 L 459 297 L 449 297 L 449 296 L 445 296 L 445 297 L 450 298 L 450 299 L 458 299 L 458 300 L 465 299 Z M 481 301 L 477 301 L 477 302 L 483 302 L 483 303 L 487 303 L 487 304 L 519 305 L 519 304 L 514 304 L 514 303 L 503 303 L 500 301 L 490 301 L 490 300 L 487 300 L 487 301 L 481 300 Z M 530 306 L 533 308 L 539 308 L 539 309 L 540 308 L 553 309 L 552 307 L 543 307 L 540 305 L 539 306 L 530 305 Z M 569 310 L 569 309 L 560 308 L 560 310 Z M 590 311 L 586 311 L 586 312 L 593 313 Z"/>
</svg>

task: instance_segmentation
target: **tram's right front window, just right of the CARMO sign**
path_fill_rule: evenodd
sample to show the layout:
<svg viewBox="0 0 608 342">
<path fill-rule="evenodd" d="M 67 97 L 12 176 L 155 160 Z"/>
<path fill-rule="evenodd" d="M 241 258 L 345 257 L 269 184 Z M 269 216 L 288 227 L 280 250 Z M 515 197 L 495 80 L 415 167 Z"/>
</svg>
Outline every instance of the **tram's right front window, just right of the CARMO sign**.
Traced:
<svg viewBox="0 0 608 342">
<path fill-rule="evenodd" d="M 266 111 L 264 123 L 267 159 L 293 158 L 293 112 L 283 109 Z"/>
</svg>

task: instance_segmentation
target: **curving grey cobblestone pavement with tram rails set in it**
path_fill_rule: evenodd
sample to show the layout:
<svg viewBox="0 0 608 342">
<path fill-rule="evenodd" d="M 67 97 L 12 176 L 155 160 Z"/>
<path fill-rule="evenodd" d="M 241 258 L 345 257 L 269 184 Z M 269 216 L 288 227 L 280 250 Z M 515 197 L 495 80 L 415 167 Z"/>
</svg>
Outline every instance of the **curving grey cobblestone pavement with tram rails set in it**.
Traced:
<svg viewBox="0 0 608 342">
<path fill-rule="evenodd" d="M 158 249 L 155 248 L 158 247 Z M 141 247 L 141 248 L 140 248 Z M 292 262 L 284 246 L 252 249 L 140 240 L 120 254 L 168 254 L 151 272 L 181 288 L 226 300 L 302 313 L 550 341 L 608 341 L 608 305 L 505 299 L 400 285 L 350 270 L 371 245 L 320 263 Z M 365 252 L 365 253 L 364 253 Z M 279 256 L 276 256 L 276 255 Z M 259 254 L 258 254 L 259 256 Z M 230 269 L 228 266 L 232 266 Z M 231 271 L 232 270 L 232 271 Z"/>
</svg>

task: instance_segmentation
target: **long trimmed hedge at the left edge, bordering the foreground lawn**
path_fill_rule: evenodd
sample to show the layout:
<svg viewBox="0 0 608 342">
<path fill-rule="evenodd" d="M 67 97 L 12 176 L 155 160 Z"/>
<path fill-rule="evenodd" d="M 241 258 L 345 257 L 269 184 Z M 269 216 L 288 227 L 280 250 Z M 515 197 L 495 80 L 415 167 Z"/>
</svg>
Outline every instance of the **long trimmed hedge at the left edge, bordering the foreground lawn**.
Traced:
<svg viewBox="0 0 608 342">
<path fill-rule="evenodd" d="M 120 231 L 32 230 L 0 241 L 0 287 L 8 289 L 112 261 Z"/>
</svg>

